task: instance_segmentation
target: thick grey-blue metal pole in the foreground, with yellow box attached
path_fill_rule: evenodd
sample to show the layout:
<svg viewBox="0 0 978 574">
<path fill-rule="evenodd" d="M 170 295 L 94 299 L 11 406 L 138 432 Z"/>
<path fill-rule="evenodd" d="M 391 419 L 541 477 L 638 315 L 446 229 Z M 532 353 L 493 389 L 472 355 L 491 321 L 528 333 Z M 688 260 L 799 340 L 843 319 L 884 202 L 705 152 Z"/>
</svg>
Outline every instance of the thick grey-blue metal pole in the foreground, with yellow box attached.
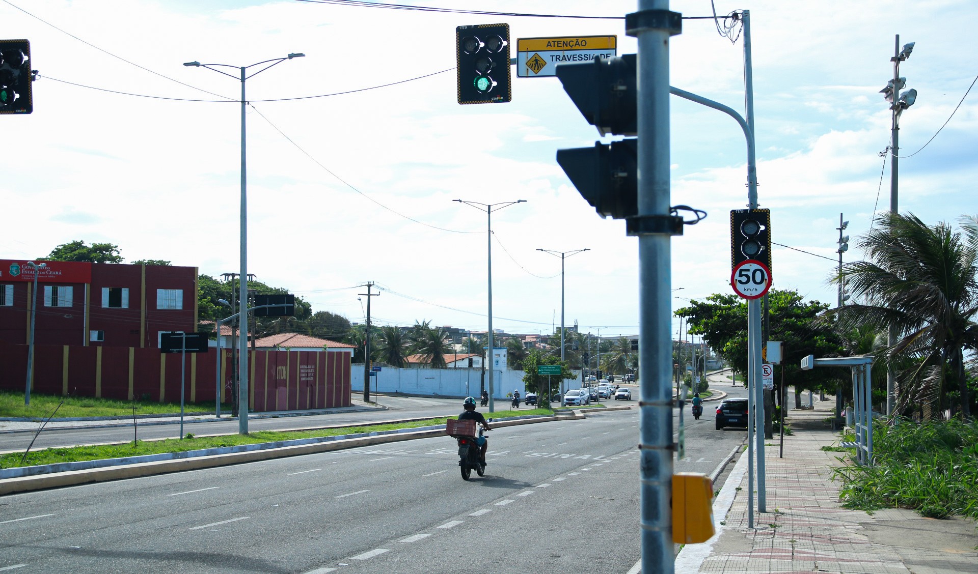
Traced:
<svg viewBox="0 0 978 574">
<path fill-rule="evenodd" d="M 640 13 L 668 9 L 668 0 L 639 0 Z M 670 30 L 644 27 L 635 33 L 639 44 L 638 215 L 668 216 Z M 639 468 L 642 571 L 646 574 L 675 571 L 670 242 L 667 233 L 639 236 Z"/>
</svg>

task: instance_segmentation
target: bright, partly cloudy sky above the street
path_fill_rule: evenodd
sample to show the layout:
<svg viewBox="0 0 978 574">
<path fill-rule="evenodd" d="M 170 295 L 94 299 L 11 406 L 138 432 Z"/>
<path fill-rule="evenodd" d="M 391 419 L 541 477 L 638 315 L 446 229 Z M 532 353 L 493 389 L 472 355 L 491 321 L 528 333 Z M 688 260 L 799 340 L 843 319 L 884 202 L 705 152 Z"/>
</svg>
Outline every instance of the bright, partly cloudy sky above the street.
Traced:
<svg viewBox="0 0 978 574">
<path fill-rule="evenodd" d="M 454 69 L 455 28 L 477 23 L 508 22 L 513 58 L 516 39 L 549 36 L 615 35 L 619 55 L 635 53 L 621 17 L 637 2 L 399 3 L 612 18 L 292 0 L 0 0 L 0 37 L 30 40 L 39 70 L 33 113 L 0 116 L 0 258 L 43 257 L 81 239 L 118 245 L 126 261 L 238 272 L 237 66 L 303 53 L 246 82 L 248 272 L 353 322 L 365 314 L 357 286 L 374 281 L 375 324 L 484 330 L 486 214 L 452 200 L 523 199 L 492 217 L 493 326 L 559 327 L 560 259 L 537 250 L 587 248 L 564 261 L 565 324 L 637 334 L 637 239 L 624 222 L 601 219 L 556 164 L 558 148 L 620 138 L 600 138 L 556 78 L 513 73 L 511 102 L 460 105 Z M 978 89 L 968 93 L 978 3 L 713 4 L 720 16 L 750 11 L 759 203 L 772 210 L 780 244 L 774 288 L 834 306 L 827 281 L 840 214 L 848 262 L 862 257 L 855 242 L 873 214 L 889 209 L 892 158 L 880 152 L 891 114 L 878 91 L 893 75 L 896 34 L 915 42 L 901 75 L 918 93 L 900 122 L 899 209 L 928 224 L 978 213 Z M 709 0 L 670 8 L 713 14 Z M 671 41 L 671 85 L 743 113 L 743 39 L 685 20 Z M 223 68 L 235 77 L 182 65 L 194 61 L 235 66 Z M 671 203 L 708 214 L 672 239 L 680 308 L 684 298 L 732 293 L 729 212 L 746 207 L 746 148 L 726 114 L 676 97 L 670 105 Z"/>
</svg>

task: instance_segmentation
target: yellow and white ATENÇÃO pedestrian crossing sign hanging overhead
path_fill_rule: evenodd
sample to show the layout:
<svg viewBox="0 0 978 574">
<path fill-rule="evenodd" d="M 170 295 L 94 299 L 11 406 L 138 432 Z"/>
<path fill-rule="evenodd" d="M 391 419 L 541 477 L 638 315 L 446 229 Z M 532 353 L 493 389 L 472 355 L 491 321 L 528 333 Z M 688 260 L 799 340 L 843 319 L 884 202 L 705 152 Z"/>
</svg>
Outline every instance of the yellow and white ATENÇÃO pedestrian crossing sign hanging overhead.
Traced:
<svg viewBox="0 0 978 574">
<path fill-rule="evenodd" d="M 614 58 L 617 54 L 617 36 L 519 38 L 516 40 L 516 76 L 554 77 L 558 63 L 588 62 L 596 58 Z"/>
</svg>

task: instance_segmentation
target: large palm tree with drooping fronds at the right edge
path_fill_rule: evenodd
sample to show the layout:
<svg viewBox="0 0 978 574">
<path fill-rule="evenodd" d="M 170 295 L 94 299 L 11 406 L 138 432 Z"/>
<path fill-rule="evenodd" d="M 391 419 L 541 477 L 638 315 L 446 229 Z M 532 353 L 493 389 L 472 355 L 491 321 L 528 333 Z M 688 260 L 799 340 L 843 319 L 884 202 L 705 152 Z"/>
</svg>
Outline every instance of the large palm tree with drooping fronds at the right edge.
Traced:
<svg viewBox="0 0 978 574">
<path fill-rule="evenodd" d="M 880 214 L 858 243 L 868 261 L 842 266 L 832 279 L 866 302 L 835 310 L 843 332 L 868 325 L 898 335 L 884 351 L 907 365 L 898 376 L 898 412 L 920 404 L 929 418 L 953 408 L 947 393 L 956 382 L 960 412 L 970 418 L 963 349 L 978 348 L 978 221 L 962 218 L 961 229 L 963 240 L 945 223 Z"/>
</svg>

